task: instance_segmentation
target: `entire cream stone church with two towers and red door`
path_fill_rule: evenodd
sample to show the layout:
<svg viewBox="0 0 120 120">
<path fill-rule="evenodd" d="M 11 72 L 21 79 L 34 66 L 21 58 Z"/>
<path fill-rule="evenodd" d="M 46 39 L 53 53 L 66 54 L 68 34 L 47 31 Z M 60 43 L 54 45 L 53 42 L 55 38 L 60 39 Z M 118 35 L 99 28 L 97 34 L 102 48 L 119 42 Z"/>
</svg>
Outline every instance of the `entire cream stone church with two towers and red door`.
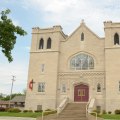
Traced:
<svg viewBox="0 0 120 120">
<path fill-rule="evenodd" d="M 57 109 L 66 97 L 120 109 L 120 23 L 104 22 L 104 32 L 99 37 L 84 21 L 69 36 L 61 26 L 33 28 L 25 109 Z"/>
</svg>

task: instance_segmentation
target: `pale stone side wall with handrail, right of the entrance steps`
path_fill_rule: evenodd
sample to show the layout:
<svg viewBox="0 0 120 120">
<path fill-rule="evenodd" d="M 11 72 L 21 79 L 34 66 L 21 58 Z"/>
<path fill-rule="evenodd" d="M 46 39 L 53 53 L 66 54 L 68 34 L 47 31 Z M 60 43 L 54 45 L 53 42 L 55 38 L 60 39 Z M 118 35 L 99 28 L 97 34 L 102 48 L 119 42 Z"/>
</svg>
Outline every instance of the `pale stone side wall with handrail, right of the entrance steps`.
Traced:
<svg viewBox="0 0 120 120">
<path fill-rule="evenodd" d="M 90 98 L 89 102 L 86 105 L 86 117 L 89 116 L 89 114 L 95 114 L 95 119 L 97 120 L 97 112 L 92 112 L 90 109 L 94 107 L 95 104 L 95 98 Z"/>
</svg>

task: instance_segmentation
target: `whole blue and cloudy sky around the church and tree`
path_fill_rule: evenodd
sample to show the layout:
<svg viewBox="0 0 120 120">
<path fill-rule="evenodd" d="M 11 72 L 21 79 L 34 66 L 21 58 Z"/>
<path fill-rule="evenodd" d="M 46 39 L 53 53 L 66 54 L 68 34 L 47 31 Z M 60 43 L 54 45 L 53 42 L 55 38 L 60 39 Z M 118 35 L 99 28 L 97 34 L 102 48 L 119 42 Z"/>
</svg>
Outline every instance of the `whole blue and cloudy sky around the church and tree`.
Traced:
<svg viewBox="0 0 120 120">
<path fill-rule="evenodd" d="M 9 18 L 21 26 L 27 35 L 18 36 L 9 63 L 0 51 L 0 93 L 22 93 L 27 86 L 31 31 L 33 27 L 61 25 L 70 35 L 84 19 L 98 36 L 104 37 L 104 21 L 120 22 L 120 0 L 0 0 L 0 11 L 10 9 Z M 1 50 L 1 49 L 0 49 Z"/>
</svg>

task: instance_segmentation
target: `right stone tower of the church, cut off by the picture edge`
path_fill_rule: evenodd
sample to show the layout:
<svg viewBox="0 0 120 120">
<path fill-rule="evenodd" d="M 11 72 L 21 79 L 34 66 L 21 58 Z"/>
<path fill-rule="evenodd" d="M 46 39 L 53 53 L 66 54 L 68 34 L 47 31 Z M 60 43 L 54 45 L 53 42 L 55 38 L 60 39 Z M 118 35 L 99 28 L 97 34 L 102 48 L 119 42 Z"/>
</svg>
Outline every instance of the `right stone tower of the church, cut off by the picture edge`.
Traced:
<svg viewBox="0 0 120 120">
<path fill-rule="evenodd" d="M 120 106 L 120 23 L 104 22 L 106 111 Z"/>
</svg>

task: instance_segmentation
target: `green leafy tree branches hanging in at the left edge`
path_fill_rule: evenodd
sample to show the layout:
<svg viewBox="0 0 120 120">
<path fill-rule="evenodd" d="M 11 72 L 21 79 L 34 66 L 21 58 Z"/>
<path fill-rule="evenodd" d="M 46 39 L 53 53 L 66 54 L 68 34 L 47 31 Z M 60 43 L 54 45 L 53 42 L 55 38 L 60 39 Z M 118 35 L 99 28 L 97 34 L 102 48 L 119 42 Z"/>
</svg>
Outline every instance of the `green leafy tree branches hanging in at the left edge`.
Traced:
<svg viewBox="0 0 120 120">
<path fill-rule="evenodd" d="M 16 43 L 17 35 L 24 36 L 27 34 L 20 26 L 15 26 L 7 15 L 11 11 L 9 9 L 2 11 L 0 20 L 0 47 L 3 54 L 7 57 L 9 62 L 13 61 L 11 51 Z"/>
</svg>

